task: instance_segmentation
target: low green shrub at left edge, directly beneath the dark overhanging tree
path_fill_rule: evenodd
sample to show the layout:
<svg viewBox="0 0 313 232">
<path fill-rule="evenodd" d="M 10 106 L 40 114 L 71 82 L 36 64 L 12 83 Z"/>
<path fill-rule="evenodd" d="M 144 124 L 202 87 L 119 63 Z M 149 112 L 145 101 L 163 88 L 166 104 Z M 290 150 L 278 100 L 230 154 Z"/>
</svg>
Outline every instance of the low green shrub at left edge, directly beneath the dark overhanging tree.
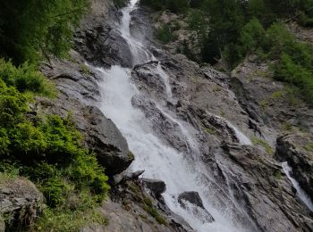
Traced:
<svg viewBox="0 0 313 232">
<path fill-rule="evenodd" d="M 41 95 L 54 95 L 54 88 L 37 68 L 27 62 L 16 68 L 12 62 L 0 59 L 0 79 L 9 87 L 20 92 L 34 92 Z"/>
</svg>

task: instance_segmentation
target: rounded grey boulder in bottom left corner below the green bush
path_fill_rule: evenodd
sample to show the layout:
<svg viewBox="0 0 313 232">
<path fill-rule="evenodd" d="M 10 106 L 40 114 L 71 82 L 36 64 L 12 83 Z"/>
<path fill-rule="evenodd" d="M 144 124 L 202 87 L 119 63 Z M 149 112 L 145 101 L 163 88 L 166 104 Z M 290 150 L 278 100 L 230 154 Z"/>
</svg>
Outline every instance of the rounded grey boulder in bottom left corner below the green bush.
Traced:
<svg viewBox="0 0 313 232">
<path fill-rule="evenodd" d="M 8 229 L 33 223 L 42 212 L 43 202 L 43 195 L 25 178 L 0 182 L 0 215 L 10 215 L 14 219 Z M 3 222 L 0 227 L 4 228 Z"/>
</svg>

